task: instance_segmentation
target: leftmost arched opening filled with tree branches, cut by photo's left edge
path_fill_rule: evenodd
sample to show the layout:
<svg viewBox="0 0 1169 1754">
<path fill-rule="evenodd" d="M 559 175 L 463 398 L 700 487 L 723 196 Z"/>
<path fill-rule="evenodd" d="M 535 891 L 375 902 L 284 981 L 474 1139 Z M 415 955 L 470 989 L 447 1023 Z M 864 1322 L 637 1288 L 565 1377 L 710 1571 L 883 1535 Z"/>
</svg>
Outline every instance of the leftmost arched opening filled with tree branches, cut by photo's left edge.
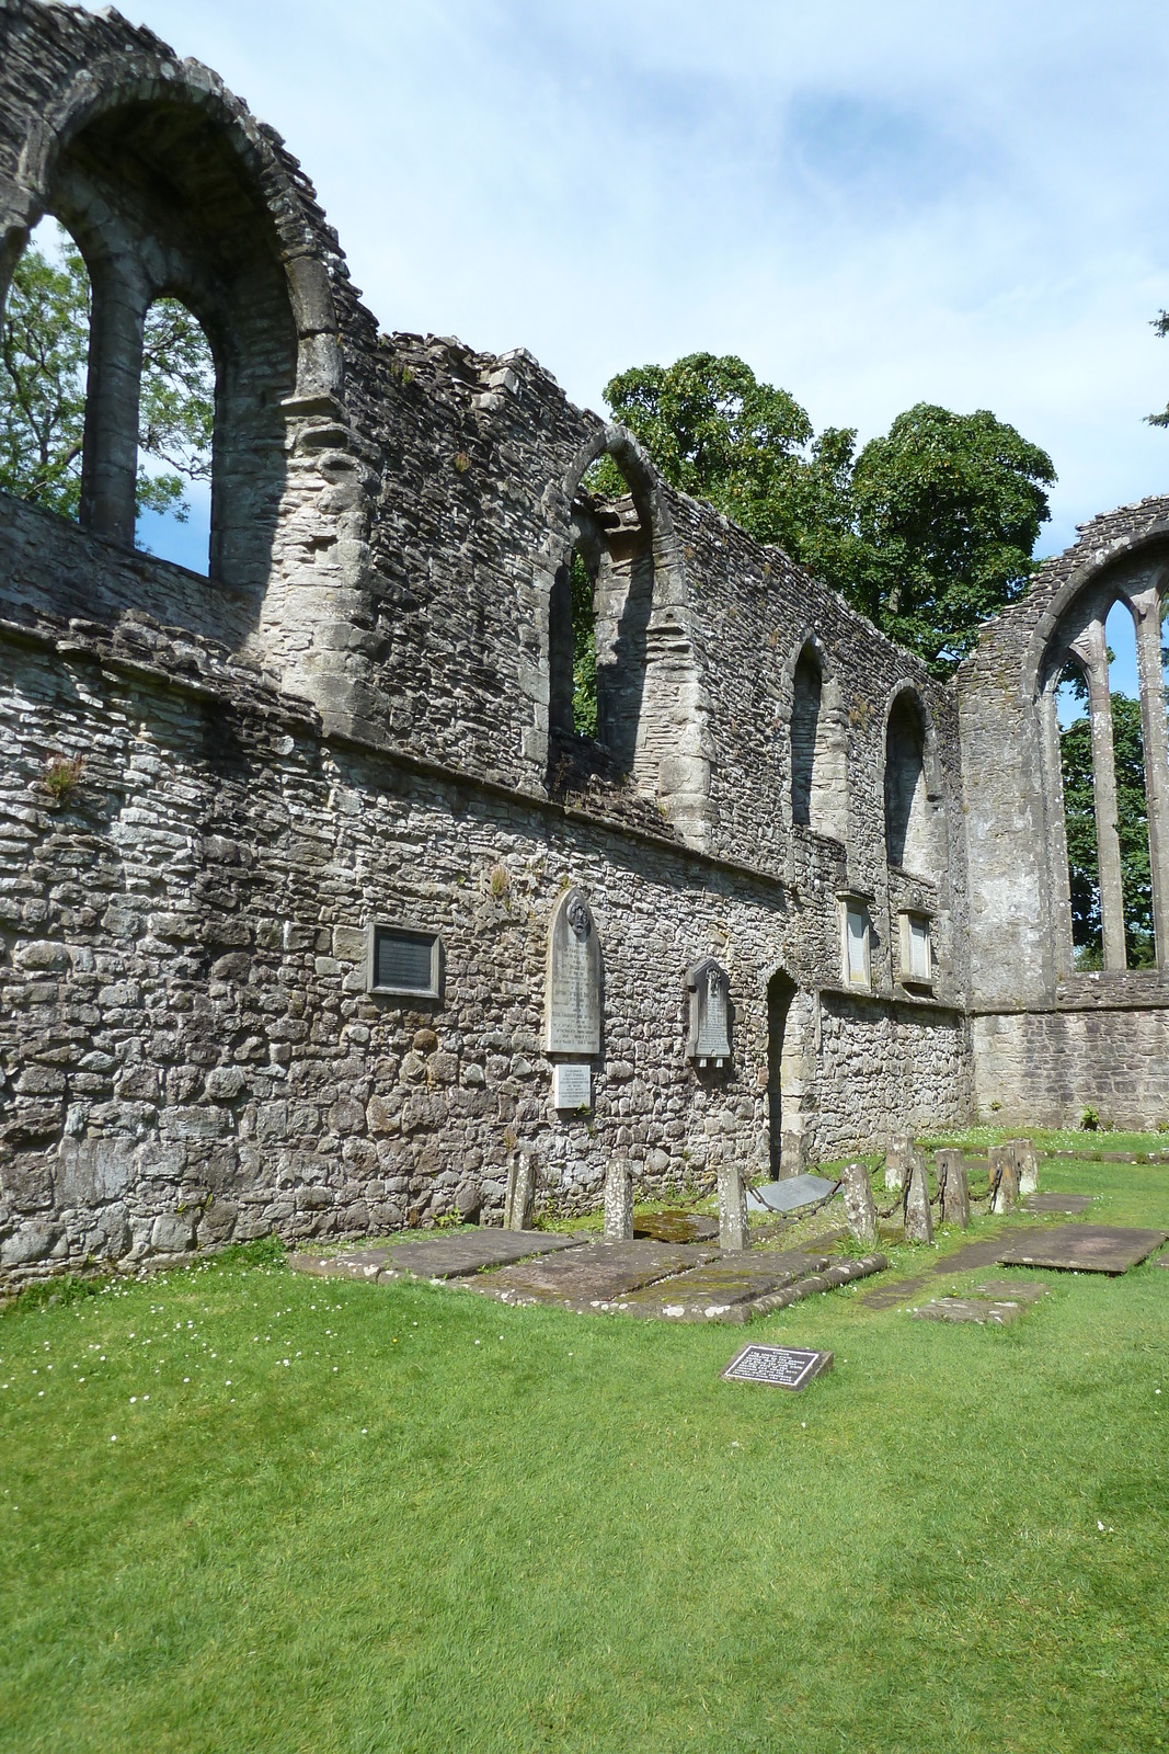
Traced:
<svg viewBox="0 0 1169 1754">
<path fill-rule="evenodd" d="M 77 517 L 93 291 L 77 244 L 42 219 L 21 254 L 0 324 L 0 488 Z"/>
</svg>

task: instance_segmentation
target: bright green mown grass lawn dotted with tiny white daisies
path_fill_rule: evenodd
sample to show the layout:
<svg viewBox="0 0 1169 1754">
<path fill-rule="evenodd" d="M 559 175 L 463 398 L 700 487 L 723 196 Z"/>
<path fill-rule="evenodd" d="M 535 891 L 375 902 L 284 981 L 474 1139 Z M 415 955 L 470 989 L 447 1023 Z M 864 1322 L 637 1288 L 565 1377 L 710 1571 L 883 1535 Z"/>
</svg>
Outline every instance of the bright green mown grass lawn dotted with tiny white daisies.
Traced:
<svg viewBox="0 0 1169 1754">
<path fill-rule="evenodd" d="M 1169 1230 L 1169 1166 L 1043 1186 Z M 1169 1747 L 1169 1272 L 1043 1277 L 1010 1330 L 866 1286 L 675 1328 L 240 1254 L 21 1300 L 0 1747 Z M 836 1368 L 720 1382 L 747 1335 Z"/>
</svg>

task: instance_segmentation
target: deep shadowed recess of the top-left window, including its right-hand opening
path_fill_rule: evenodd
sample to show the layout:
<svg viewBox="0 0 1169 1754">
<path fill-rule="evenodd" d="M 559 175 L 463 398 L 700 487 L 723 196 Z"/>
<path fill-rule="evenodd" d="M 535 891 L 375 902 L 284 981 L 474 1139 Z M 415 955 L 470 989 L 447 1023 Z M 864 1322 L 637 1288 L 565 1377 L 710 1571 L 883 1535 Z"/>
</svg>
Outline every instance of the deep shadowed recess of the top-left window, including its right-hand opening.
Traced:
<svg viewBox="0 0 1169 1754">
<path fill-rule="evenodd" d="M 75 240 L 67 263 L 86 274 L 89 319 L 68 405 L 84 433 L 81 451 L 75 433 L 67 447 L 68 498 L 56 509 L 210 574 L 258 609 L 298 335 L 254 161 L 207 93 L 128 95 L 63 142 L 40 198 Z"/>
</svg>

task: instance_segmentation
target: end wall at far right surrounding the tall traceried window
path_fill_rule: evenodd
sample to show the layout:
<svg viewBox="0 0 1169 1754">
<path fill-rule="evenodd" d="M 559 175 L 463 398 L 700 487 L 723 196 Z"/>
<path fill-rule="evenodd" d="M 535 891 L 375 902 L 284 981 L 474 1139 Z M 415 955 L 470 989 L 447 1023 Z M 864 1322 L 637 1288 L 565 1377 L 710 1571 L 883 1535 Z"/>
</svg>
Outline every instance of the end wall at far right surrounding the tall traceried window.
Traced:
<svg viewBox="0 0 1169 1754">
<path fill-rule="evenodd" d="M 1087 524 L 1027 595 L 992 621 L 957 675 L 969 859 L 971 1044 L 978 1112 L 1006 1124 L 1158 1124 L 1167 1066 L 1164 970 L 1078 973 L 1053 667 L 1083 605 L 1164 575 L 1169 503 Z M 1164 965 L 1165 945 L 1158 945 Z M 994 1105 L 999 1107 L 994 1107 Z"/>
</svg>

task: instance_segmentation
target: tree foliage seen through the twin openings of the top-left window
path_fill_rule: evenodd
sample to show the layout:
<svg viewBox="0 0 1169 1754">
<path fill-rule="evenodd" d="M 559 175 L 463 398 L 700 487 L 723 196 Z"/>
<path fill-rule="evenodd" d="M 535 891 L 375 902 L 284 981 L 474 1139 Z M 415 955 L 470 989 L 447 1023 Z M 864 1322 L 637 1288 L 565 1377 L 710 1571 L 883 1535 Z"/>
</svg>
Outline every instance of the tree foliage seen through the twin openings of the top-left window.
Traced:
<svg viewBox="0 0 1169 1754">
<path fill-rule="evenodd" d="M 35 246 L 25 251 L 4 309 L 0 488 L 75 517 L 91 291 L 81 253 L 60 226 L 56 254 L 53 261 Z M 214 414 L 216 367 L 207 337 L 177 298 L 158 298 L 145 314 L 142 344 L 138 512 L 186 521 L 186 482 L 210 479 Z"/>
</svg>

